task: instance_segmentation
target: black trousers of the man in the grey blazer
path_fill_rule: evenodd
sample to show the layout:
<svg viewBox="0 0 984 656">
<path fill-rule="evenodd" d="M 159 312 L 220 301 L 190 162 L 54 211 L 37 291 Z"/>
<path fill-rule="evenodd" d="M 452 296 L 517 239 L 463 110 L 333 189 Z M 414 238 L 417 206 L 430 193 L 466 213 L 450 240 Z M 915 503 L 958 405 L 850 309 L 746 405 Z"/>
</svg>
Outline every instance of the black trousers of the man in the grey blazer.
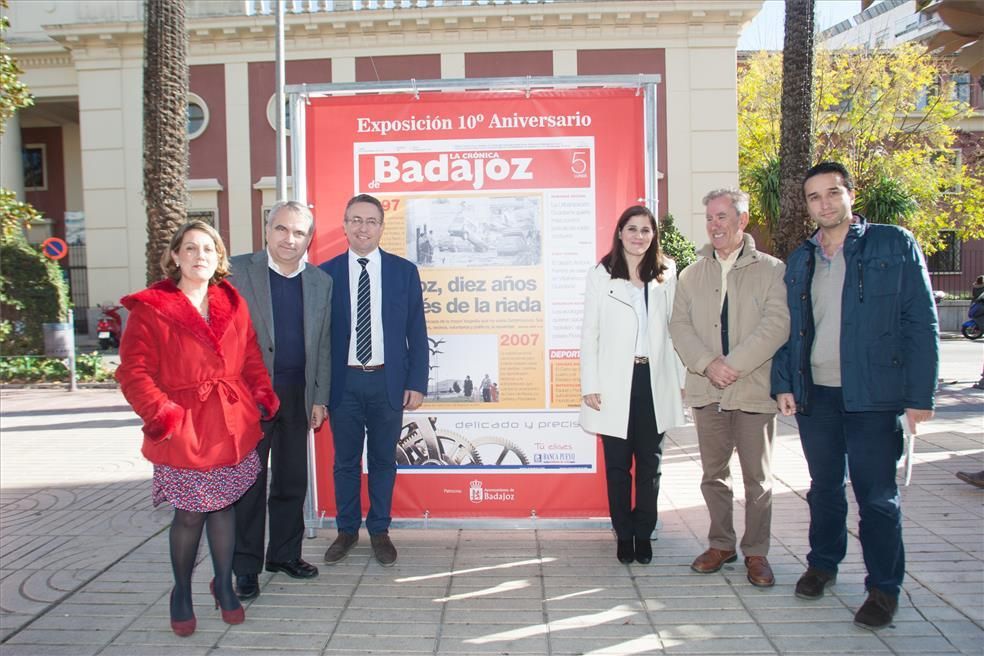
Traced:
<svg viewBox="0 0 984 656">
<path fill-rule="evenodd" d="M 262 469 L 256 482 L 236 501 L 237 576 L 263 569 L 263 537 L 267 516 L 267 472 L 270 472 L 270 540 L 266 559 L 285 562 L 301 557 L 304 539 L 304 498 L 307 496 L 307 432 L 309 420 L 303 385 L 276 385 L 280 412 L 265 422 L 256 446 Z M 269 462 L 269 464 L 268 464 Z"/>
</svg>

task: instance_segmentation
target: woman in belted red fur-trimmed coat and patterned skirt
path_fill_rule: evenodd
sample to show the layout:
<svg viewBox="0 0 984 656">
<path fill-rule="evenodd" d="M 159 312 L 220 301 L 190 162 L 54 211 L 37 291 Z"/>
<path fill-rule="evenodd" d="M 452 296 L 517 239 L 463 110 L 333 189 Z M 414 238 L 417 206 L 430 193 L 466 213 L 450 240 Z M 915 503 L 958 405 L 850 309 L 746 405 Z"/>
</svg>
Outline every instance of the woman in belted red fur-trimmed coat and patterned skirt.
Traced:
<svg viewBox="0 0 984 656">
<path fill-rule="evenodd" d="M 229 261 L 210 225 L 190 221 L 161 258 L 166 280 L 123 298 L 130 311 L 116 379 L 144 421 L 141 452 L 154 464 L 154 505 L 174 506 L 171 628 L 196 626 L 191 574 L 202 529 L 222 619 L 245 619 L 232 589 L 236 501 L 256 480 L 256 444 L 280 402 L 270 385 L 246 302 L 223 279 Z"/>
</svg>

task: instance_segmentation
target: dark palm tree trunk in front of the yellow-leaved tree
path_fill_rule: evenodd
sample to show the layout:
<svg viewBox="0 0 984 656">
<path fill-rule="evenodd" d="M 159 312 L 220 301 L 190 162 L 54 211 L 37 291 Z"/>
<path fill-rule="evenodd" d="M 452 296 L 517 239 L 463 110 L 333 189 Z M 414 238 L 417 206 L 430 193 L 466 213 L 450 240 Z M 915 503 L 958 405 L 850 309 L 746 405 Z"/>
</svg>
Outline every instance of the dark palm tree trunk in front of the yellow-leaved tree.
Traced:
<svg viewBox="0 0 984 656">
<path fill-rule="evenodd" d="M 786 0 L 779 124 L 777 257 L 785 259 L 813 229 L 803 176 L 813 164 L 813 10 L 815 0 Z"/>
</svg>

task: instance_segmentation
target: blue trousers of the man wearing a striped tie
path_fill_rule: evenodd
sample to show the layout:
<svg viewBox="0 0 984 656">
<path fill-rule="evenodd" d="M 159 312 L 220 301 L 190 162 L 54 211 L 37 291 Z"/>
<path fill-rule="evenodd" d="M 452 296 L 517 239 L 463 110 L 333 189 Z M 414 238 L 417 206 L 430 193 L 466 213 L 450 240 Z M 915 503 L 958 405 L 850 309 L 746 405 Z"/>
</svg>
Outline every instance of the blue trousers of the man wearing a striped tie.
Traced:
<svg viewBox="0 0 984 656">
<path fill-rule="evenodd" d="M 403 410 L 394 410 L 386 395 L 382 371 L 350 369 L 345 394 L 330 413 L 335 445 L 335 524 L 345 533 L 362 526 L 362 446 L 369 465 L 370 535 L 385 533 L 392 521 L 393 486 L 396 484 L 396 442 L 400 438 Z"/>
</svg>

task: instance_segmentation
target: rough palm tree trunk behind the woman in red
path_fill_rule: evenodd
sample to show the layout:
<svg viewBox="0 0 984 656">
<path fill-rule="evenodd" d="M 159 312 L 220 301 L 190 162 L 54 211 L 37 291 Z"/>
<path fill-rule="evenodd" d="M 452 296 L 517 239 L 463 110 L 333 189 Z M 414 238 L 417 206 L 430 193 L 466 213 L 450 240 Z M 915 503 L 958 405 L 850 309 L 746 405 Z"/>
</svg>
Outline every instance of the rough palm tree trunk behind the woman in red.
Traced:
<svg viewBox="0 0 984 656">
<path fill-rule="evenodd" d="M 146 0 L 144 8 L 144 200 L 149 285 L 163 277 L 161 253 L 187 218 L 188 35 L 184 0 Z"/>
</svg>

